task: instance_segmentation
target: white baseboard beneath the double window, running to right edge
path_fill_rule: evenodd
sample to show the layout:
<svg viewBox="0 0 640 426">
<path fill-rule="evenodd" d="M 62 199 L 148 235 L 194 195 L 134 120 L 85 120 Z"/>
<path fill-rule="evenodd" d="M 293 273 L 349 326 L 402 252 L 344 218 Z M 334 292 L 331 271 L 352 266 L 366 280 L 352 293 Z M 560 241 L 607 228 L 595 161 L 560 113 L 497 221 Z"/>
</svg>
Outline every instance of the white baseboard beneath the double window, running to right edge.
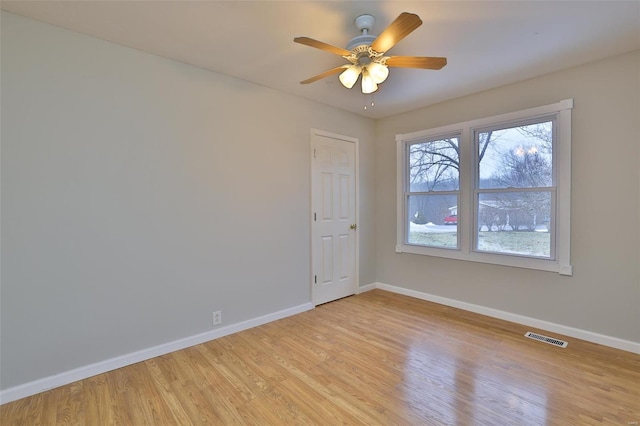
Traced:
<svg viewBox="0 0 640 426">
<path fill-rule="evenodd" d="M 632 342 L 630 340 L 619 339 L 617 337 L 594 333 L 594 332 L 582 330 L 579 328 L 568 327 L 562 324 L 556 324 L 549 321 L 530 318 L 524 315 L 500 311 L 498 309 L 487 308 L 481 305 L 474 305 L 472 303 L 461 302 L 459 300 L 436 296 L 429 293 L 423 293 L 416 290 L 409 290 L 406 288 L 397 287 L 389 284 L 373 283 L 373 284 L 369 284 L 366 287 L 367 287 L 367 290 L 372 290 L 373 288 L 379 288 L 380 290 L 386 290 L 393 293 L 403 294 L 405 296 L 415 297 L 417 299 L 427 300 L 429 302 L 439 303 L 441 305 L 451 306 L 454 308 L 463 309 L 465 311 L 475 312 L 477 314 L 487 315 L 493 318 L 515 322 L 522 325 L 528 325 L 529 327 L 535 327 L 541 330 L 563 334 L 565 336 L 575 337 L 576 339 L 586 340 L 587 342 L 597 343 L 599 345 L 605 345 L 615 349 L 621 349 L 623 351 L 640 354 L 640 343 Z"/>
</svg>

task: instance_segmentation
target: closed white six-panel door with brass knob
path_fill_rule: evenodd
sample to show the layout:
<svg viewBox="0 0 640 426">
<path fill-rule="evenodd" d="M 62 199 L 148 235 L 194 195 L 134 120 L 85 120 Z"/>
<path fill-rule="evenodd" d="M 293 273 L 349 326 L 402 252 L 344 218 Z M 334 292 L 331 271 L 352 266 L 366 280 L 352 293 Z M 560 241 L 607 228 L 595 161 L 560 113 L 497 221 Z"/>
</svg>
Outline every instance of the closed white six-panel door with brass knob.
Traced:
<svg viewBox="0 0 640 426">
<path fill-rule="evenodd" d="M 311 135 L 312 300 L 315 305 L 355 294 L 357 139 Z"/>
</svg>

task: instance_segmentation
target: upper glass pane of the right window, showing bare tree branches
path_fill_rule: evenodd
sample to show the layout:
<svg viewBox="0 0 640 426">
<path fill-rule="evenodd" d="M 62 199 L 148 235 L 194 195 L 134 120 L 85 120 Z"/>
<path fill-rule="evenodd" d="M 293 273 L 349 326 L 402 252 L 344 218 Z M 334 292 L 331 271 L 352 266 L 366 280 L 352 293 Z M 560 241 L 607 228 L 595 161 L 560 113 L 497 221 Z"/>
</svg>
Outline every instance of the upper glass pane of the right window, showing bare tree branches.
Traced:
<svg viewBox="0 0 640 426">
<path fill-rule="evenodd" d="M 553 184 L 553 122 L 477 135 L 479 188 L 541 188 Z"/>
</svg>

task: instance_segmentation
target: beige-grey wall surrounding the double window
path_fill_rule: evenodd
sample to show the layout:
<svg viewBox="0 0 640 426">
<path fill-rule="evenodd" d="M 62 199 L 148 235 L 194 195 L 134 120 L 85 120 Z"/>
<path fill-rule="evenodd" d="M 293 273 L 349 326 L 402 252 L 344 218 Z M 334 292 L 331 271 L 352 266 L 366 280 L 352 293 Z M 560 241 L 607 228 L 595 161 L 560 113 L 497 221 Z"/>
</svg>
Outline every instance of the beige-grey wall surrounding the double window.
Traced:
<svg viewBox="0 0 640 426">
<path fill-rule="evenodd" d="M 573 98 L 574 275 L 397 254 L 395 135 Z M 640 52 L 377 122 L 381 283 L 640 342 Z"/>
</svg>

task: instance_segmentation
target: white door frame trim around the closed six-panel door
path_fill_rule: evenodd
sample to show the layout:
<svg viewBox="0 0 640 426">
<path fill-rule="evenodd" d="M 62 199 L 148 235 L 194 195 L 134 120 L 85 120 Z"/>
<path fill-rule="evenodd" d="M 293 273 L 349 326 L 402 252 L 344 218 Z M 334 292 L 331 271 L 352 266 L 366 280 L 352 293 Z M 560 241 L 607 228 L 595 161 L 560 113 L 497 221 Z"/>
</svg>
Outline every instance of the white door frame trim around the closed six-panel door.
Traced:
<svg viewBox="0 0 640 426">
<path fill-rule="evenodd" d="M 354 153 L 354 223 L 358 225 L 355 230 L 354 238 L 354 282 L 353 282 L 353 294 L 358 294 L 360 288 L 360 140 L 351 136 L 340 135 L 338 133 L 327 132 L 325 130 L 311 129 L 310 142 L 309 142 L 309 300 L 316 306 L 316 301 L 313 300 L 313 284 L 314 284 L 314 271 L 313 271 L 313 149 L 316 136 L 322 136 L 325 138 L 336 139 L 339 141 L 353 143 L 355 148 Z"/>
</svg>

